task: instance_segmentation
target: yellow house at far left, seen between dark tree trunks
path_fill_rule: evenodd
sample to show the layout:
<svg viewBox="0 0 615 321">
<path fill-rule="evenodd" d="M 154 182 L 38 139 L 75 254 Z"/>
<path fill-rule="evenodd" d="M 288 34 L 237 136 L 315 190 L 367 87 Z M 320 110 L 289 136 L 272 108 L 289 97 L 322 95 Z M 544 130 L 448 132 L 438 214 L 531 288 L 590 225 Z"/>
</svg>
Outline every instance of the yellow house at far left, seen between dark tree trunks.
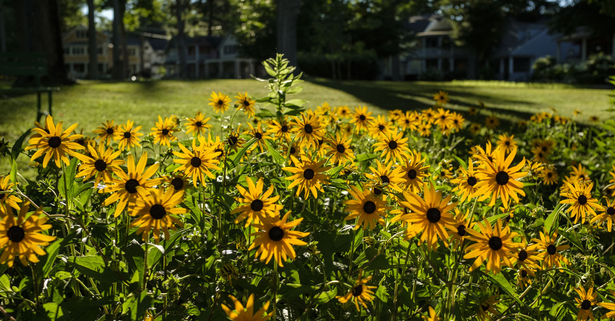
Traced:
<svg viewBox="0 0 615 321">
<path fill-rule="evenodd" d="M 113 68 L 113 44 L 105 33 L 97 31 L 96 43 L 98 50 L 98 77 L 110 77 Z M 89 74 L 90 54 L 88 28 L 79 25 L 64 34 L 64 64 L 69 77 L 85 78 Z M 138 39 L 127 39 L 129 74 L 140 72 L 140 42 Z M 122 54 L 120 54 L 120 59 Z"/>
</svg>

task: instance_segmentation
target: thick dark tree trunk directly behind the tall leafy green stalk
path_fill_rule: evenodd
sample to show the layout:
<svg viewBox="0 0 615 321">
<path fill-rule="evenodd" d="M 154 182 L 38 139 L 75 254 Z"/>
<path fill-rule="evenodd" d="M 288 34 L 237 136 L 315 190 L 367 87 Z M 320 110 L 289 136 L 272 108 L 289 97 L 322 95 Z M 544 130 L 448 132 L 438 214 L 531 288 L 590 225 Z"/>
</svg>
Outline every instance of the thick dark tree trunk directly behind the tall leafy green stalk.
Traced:
<svg viewBox="0 0 615 321">
<path fill-rule="evenodd" d="M 277 1 L 277 50 L 297 66 L 297 17 L 301 0 Z"/>
</svg>

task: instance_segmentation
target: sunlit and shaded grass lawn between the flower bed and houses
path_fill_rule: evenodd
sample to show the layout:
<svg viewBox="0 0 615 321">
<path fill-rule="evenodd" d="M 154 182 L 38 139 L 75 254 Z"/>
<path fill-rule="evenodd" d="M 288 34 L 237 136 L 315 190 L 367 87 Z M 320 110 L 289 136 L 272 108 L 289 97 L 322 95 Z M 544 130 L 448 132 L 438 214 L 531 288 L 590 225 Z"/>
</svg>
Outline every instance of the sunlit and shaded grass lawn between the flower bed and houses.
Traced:
<svg viewBox="0 0 615 321">
<path fill-rule="evenodd" d="M 312 79 L 303 86 L 303 92 L 296 98 L 308 100 L 307 107 L 327 101 L 332 106 L 366 105 L 375 114 L 391 109 L 424 109 L 432 106 L 435 92 L 445 90 L 450 93 L 451 101 L 447 105 L 450 109 L 463 111 L 482 101 L 489 110 L 509 120 L 527 119 L 536 112 L 549 110 L 549 107 L 557 109 L 560 115 L 571 117 L 573 110 L 579 109 L 582 110 L 581 122 L 587 122 L 590 115 L 606 117 L 611 92 L 608 88 L 475 81 L 339 82 Z M 64 120 L 65 124 L 79 123 L 78 129 L 83 128 L 85 134 L 91 134 L 105 120 L 114 119 L 116 123 L 122 123 L 130 118 L 136 125 L 143 125 L 142 133 L 148 133 L 158 115 L 186 117 L 199 110 L 211 114 L 207 99 L 212 90 L 232 96 L 237 91 L 247 91 L 253 97 L 263 96 L 267 92 L 263 82 L 251 79 L 135 83 L 81 81 L 78 85 L 65 86 L 54 94 L 54 117 Z M 0 137 L 12 146 L 12 142 L 33 125 L 36 96 L 14 96 L 0 101 Z M 236 120 L 245 118 L 237 114 Z M 20 164 L 26 161 L 25 158 L 20 159 Z M 9 158 L 0 158 L 0 174 L 8 170 Z"/>
</svg>

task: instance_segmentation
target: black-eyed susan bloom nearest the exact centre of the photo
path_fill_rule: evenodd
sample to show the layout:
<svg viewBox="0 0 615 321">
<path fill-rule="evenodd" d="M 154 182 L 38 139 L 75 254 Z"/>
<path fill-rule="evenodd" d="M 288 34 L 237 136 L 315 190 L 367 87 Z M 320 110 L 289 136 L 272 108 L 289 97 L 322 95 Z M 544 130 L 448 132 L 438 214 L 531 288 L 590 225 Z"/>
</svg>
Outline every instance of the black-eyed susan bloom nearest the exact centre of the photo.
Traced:
<svg viewBox="0 0 615 321">
<path fill-rule="evenodd" d="M 304 198 L 308 198 L 310 192 L 314 195 L 314 198 L 317 198 L 317 191 L 323 191 L 322 184 L 326 184 L 327 179 L 329 179 L 329 176 L 323 174 L 323 172 L 330 169 L 328 166 L 322 166 L 326 160 L 314 161 L 311 158 L 303 157 L 300 161 L 294 156 L 291 156 L 290 159 L 295 164 L 295 167 L 282 168 L 284 171 L 294 174 L 293 176 L 286 177 L 286 179 L 293 181 L 288 185 L 288 189 L 290 190 L 296 186 L 297 196 L 303 191 Z"/>
</svg>

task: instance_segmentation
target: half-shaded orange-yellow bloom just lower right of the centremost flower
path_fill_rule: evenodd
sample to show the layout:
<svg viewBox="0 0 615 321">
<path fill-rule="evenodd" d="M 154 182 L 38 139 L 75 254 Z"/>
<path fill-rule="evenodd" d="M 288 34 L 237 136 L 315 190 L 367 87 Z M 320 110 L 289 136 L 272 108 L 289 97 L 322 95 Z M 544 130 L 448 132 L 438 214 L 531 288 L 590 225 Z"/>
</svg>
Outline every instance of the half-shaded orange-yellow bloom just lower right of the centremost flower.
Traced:
<svg viewBox="0 0 615 321">
<path fill-rule="evenodd" d="M 372 230 L 376 223 L 384 225 L 383 217 L 386 216 L 386 212 L 392 207 L 387 206 L 383 198 L 375 195 L 365 187 L 361 190 L 359 187 L 351 186 L 348 193 L 353 199 L 344 201 L 344 205 L 346 205 L 344 211 L 350 212 L 350 214 L 344 217 L 344 220 L 357 218 L 357 223 L 354 226 L 355 230 L 361 225 L 363 225 L 363 229 L 367 230 Z"/>
</svg>

